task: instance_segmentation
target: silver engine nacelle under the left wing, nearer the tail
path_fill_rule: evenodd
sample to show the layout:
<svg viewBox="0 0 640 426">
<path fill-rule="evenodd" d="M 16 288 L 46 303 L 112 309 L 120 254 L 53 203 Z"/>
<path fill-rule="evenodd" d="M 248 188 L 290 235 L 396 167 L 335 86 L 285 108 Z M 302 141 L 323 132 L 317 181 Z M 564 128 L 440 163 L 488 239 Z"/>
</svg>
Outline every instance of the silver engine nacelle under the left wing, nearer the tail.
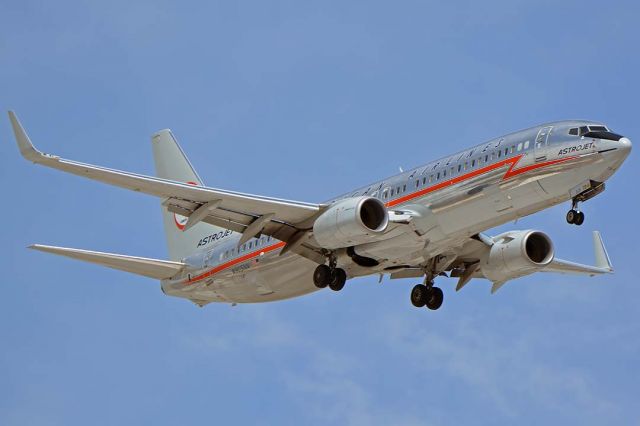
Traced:
<svg viewBox="0 0 640 426">
<path fill-rule="evenodd" d="M 347 198 L 335 203 L 313 224 L 313 236 L 326 249 L 368 243 L 389 225 L 389 213 L 373 197 Z"/>
</svg>

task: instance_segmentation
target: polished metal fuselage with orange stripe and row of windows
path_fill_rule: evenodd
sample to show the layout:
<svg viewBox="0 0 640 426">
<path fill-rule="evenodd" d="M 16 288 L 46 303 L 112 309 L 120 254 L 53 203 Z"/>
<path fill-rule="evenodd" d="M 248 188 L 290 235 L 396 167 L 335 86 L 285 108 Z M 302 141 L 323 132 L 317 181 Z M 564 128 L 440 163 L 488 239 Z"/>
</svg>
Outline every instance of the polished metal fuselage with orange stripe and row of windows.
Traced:
<svg viewBox="0 0 640 426">
<path fill-rule="evenodd" d="M 330 200 L 367 195 L 390 210 L 420 213 L 409 225 L 391 226 L 384 239 L 356 247 L 378 266 L 358 266 L 346 250 L 336 252 L 339 266 L 353 278 L 424 265 L 459 253 L 479 232 L 566 202 L 590 182 L 605 182 L 631 144 L 568 134 L 594 124 L 562 121 L 511 133 Z M 187 259 L 190 268 L 163 281 L 163 291 L 206 304 L 267 302 L 317 290 L 317 264 L 293 253 L 280 256 L 284 243 L 277 240 L 256 240 L 255 250 L 226 258 L 239 239 L 234 233 Z"/>
</svg>

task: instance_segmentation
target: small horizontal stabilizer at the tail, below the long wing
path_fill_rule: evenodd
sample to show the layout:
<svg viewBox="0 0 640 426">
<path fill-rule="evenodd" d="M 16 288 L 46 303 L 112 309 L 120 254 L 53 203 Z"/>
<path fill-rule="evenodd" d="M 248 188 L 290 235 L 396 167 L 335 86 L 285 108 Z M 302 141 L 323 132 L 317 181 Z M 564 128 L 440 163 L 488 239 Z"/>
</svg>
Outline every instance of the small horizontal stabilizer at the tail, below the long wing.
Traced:
<svg viewBox="0 0 640 426">
<path fill-rule="evenodd" d="M 184 263 L 168 260 L 148 259 L 145 257 L 125 256 L 123 254 L 101 253 L 98 251 L 71 249 L 65 247 L 34 244 L 29 248 L 47 253 L 59 254 L 72 259 L 83 260 L 108 268 L 119 269 L 132 274 L 143 275 L 158 280 L 171 278 L 179 273 Z"/>
</svg>

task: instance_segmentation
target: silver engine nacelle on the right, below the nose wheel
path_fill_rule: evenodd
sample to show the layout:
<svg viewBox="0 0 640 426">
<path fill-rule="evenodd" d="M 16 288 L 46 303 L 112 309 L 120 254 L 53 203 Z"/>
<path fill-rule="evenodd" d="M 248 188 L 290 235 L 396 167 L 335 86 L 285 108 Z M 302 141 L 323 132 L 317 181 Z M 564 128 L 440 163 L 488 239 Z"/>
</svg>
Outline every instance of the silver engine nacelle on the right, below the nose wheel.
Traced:
<svg viewBox="0 0 640 426">
<path fill-rule="evenodd" d="M 547 234 L 510 231 L 494 238 L 481 268 L 486 278 L 504 282 L 544 268 L 553 261 L 553 256 L 553 243 Z"/>
</svg>

